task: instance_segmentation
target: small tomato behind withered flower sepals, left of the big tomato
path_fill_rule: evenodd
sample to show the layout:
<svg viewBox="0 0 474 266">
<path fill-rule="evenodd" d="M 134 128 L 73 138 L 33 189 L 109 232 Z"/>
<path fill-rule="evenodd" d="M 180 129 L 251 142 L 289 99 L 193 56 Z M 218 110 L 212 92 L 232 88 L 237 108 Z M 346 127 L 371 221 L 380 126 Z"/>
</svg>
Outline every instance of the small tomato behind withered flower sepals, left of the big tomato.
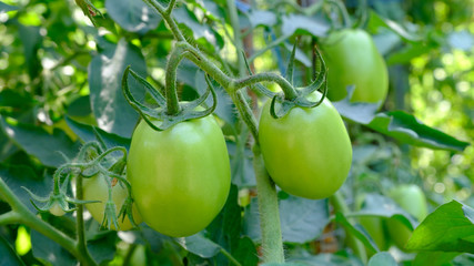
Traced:
<svg viewBox="0 0 474 266">
<path fill-rule="evenodd" d="M 113 184 L 112 184 L 113 185 Z M 105 203 L 109 200 L 109 188 L 103 176 L 94 175 L 90 178 L 82 178 L 82 191 L 83 197 L 85 201 L 100 201 L 99 203 L 89 203 L 85 204 L 85 207 L 91 213 L 92 217 L 102 224 L 103 222 L 103 213 L 105 211 Z M 123 203 L 125 202 L 128 196 L 127 187 L 120 182 L 112 186 L 112 201 L 115 204 L 115 215 L 119 215 L 120 209 L 122 208 Z M 140 224 L 142 218 L 140 213 L 138 212 L 135 204 L 132 207 L 133 221 L 135 224 Z M 120 231 L 129 231 L 133 228 L 132 223 L 129 217 L 122 221 L 122 217 L 118 218 Z M 112 229 L 117 229 L 112 224 Z"/>
</svg>

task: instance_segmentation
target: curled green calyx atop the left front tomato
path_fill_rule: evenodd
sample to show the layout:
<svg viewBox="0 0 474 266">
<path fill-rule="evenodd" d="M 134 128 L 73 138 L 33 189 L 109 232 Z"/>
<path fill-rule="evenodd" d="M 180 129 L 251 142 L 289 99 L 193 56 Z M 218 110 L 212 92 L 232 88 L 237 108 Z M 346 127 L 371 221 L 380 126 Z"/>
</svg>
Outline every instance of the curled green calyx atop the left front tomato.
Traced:
<svg viewBox="0 0 474 266">
<path fill-rule="evenodd" d="M 129 74 L 131 74 L 140 84 L 143 85 L 145 91 L 150 93 L 150 95 L 158 104 L 158 109 L 151 109 L 143 105 L 132 95 L 128 85 Z M 208 90 L 204 92 L 204 94 L 190 103 L 181 103 L 181 111 L 177 115 L 169 115 L 167 113 L 167 101 L 164 96 L 161 95 L 161 93 L 155 90 L 147 80 L 132 71 L 130 65 L 123 73 L 122 92 L 129 104 L 140 113 L 140 116 L 147 122 L 148 125 L 150 125 L 150 127 L 155 131 L 164 131 L 180 122 L 204 117 L 214 112 L 218 105 L 218 95 L 215 94 L 215 90 L 209 75 L 205 75 L 205 82 L 208 83 Z M 212 96 L 212 105 L 204 111 L 196 111 L 195 108 L 202 105 L 210 94 Z M 159 121 L 161 123 L 157 125 L 154 121 Z"/>
</svg>

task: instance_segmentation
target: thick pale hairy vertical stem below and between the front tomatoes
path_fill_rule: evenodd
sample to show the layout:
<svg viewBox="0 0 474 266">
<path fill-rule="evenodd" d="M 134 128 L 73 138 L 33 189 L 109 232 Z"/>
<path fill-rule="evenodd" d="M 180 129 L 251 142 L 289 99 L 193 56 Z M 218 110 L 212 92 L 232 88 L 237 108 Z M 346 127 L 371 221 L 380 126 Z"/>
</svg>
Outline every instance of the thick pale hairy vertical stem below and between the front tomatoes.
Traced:
<svg viewBox="0 0 474 266">
<path fill-rule="evenodd" d="M 266 172 L 260 146 L 253 146 L 253 168 L 256 177 L 260 228 L 264 263 L 284 263 L 280 211 L 275 184 Z"/>
</svg>

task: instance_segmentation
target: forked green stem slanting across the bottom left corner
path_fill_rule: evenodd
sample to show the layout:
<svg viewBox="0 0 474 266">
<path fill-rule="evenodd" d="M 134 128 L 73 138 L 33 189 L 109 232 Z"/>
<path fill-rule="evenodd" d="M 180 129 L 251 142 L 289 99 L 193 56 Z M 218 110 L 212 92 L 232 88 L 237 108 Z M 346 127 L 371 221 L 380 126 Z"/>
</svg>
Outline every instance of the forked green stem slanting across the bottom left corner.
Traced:
<svg viewBox="0 0 474 266">
<path fill-rule="evenodd" d="M 12 208 L 12 211 L 7 213 L 7 216 L 4 216 L 6 214 L 0 216 L 0 224 L 7 222 L 24 224 L 61 245 L 74 257 L 77 257 L 81 265 L 97 265 L 89 253 L 83 253 L 77 247 L 77 243 L 72 238 L 31 213 L 28 207 L 24 206 L 24 204 L 21 203 L 20 200 L 13 194 L 13 192 L 8 187 L 2 178 L 0 178 L 0 195 L 2 196 L 2 200 L 6 201 Z"/>
</svg>

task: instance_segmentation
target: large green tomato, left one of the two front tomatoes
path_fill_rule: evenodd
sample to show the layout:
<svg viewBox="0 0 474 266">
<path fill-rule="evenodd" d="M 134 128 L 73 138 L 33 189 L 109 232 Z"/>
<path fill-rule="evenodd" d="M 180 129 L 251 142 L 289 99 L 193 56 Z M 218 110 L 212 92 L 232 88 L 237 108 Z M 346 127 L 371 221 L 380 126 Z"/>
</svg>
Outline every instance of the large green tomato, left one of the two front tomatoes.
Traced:
<svg viewBox="0 0 474 266">
<path fill-rule="evenodd" d="M 205 228 L 225 204 L 231 171 L 222 131 L 213 116 L 154 131 L 137 126 L 128 176 L 143 221 L 181 237 Z"/>
</svg>

